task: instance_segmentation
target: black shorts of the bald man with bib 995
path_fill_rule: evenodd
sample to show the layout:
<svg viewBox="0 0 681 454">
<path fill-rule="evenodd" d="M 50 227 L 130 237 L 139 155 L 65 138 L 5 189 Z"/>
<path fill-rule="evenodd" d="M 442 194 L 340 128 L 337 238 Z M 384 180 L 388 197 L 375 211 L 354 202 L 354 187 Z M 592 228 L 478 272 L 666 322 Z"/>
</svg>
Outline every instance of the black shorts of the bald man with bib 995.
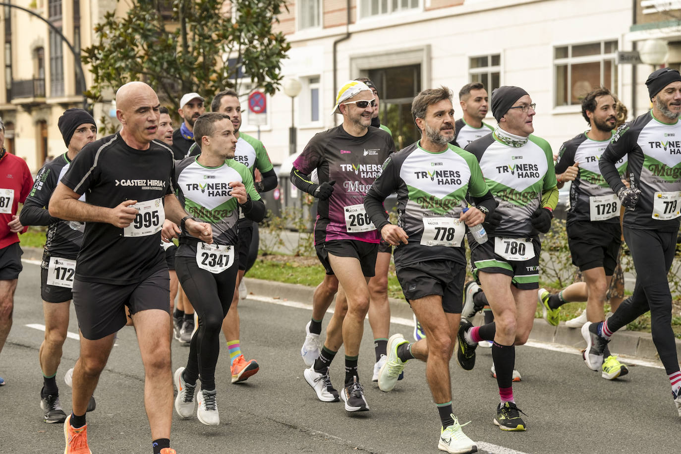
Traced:
<svg viewBox="0 0 681 454">
<path fill-rule="evenodd" d="M 74 307 L 84 338 L 106 338 L 124 327 L 125 306 L 130 314 L 149 309 L 170 312 L 168 268 L 159 268 L 142 282 L 129 285 L 74 280 Z"/>
</svg>

